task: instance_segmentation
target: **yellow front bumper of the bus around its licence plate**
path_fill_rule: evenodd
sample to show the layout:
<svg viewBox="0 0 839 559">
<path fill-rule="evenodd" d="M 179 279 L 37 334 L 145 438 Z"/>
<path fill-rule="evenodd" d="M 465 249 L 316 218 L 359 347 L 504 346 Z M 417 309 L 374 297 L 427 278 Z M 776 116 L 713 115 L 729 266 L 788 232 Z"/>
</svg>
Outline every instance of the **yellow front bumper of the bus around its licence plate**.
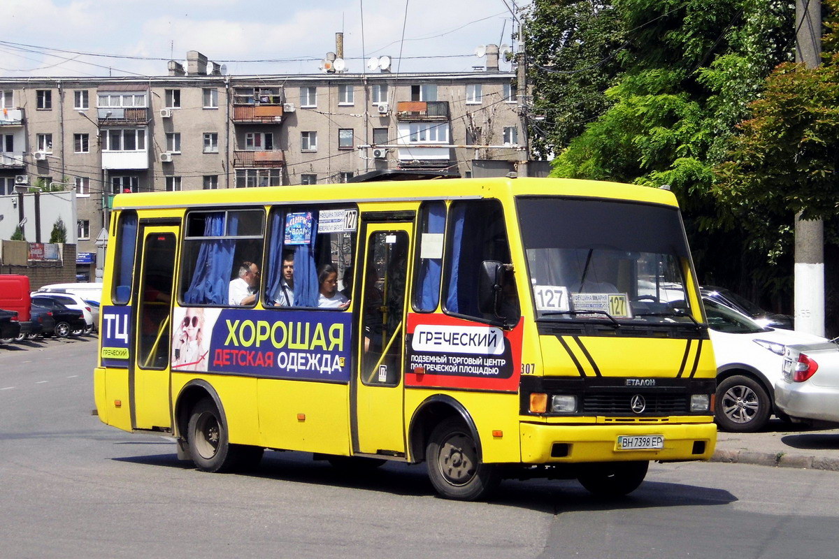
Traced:
<svg viewBox="0 0 839 559">
<path fill-rule="evenodd" d="M 717 444 L 714 423 L 550 425 L 520 423 L 523 463 L 708 460 Z M 618 449 L 618 437 L 664 437 L 662 448 Z"/>
</svg>

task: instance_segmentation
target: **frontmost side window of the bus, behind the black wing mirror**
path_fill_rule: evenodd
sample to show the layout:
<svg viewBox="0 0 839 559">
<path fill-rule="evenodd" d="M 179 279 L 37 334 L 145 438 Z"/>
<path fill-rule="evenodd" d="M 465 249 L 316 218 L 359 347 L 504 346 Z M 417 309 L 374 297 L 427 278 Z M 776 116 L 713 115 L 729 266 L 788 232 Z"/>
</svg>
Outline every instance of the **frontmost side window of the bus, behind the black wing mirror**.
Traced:
<svg viewBox="0 0 839 559">
<path fill-rule="evenodd" d="M 452 203 L 446 231 L 446 311 L 497 320 L 478 309 L 477 285 L 482 261 L 511 261 L 501 203 L 492 199 Z M 508 274 L 501 308 L 512 323 L 519 322 L 517 293 L 513 274 Z"/>
</svg>

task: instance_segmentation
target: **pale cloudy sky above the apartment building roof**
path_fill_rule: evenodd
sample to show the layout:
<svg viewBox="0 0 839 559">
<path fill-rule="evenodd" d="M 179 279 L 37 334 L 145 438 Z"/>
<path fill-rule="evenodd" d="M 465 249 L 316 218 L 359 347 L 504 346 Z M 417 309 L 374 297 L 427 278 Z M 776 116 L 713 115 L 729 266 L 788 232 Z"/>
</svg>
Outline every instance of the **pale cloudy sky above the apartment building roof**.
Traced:
<svg viewBox="0 0 839 559">
<path fill-rule="evenodd" d="M 383 55 L 392 72 L 472 70 L 478 45 L 513 45 L 513 12 L 529 2 L 3 0 L 0 76 L 166 75 L 188 50 L 231 75 L 317 74 L 340 31 L 351 73 Z"/>
</svg>

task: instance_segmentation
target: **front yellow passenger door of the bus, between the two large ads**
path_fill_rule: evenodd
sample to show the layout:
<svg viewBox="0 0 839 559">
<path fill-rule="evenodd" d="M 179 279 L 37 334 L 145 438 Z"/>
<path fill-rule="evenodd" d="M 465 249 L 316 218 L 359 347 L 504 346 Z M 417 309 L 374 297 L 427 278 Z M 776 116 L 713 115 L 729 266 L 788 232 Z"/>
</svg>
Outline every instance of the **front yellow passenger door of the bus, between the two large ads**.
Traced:
<svg viewBox="0 0 839 559">
<path fill-rule="evenodd" d="M 412 222 L 367 223 L 363 229 L 352 398 L 355 453 L 405 453 L 403 345 L 412 230 Z"/>
</svg>

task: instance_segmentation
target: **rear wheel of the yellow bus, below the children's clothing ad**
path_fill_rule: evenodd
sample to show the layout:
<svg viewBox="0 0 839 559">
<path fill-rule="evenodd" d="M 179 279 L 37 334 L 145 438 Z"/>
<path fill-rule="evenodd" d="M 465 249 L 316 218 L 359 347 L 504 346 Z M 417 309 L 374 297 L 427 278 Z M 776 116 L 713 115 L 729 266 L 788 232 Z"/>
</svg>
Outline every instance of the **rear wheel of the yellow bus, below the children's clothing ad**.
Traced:
<svg viewBox="0 0 839 559">
<path fill-rule="evenodd" d="M 227 426 L 211 399 L 192 408 L 186 433 L 190 458 L 202 472 L 228 472 L 239 463 L 239 448 L 227 440 Z"/>
</svg>

